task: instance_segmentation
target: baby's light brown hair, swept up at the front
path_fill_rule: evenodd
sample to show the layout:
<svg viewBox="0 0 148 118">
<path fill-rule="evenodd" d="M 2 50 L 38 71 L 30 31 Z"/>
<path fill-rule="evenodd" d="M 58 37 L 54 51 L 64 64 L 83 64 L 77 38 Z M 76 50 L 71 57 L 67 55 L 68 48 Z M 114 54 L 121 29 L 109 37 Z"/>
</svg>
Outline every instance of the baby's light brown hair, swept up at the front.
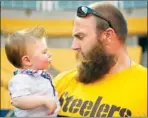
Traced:
<svg viewBox="0 0 148 118">
<path fill-rule="evenodd" d="M 23 29 L 8 36 L 5 42 L 5 51 L 9 62 L 13 66 L 21 68 L 21 58 L 26 54 L 27 43 L 44 38 L 45 29 L 43 27 Z"/>
</svg>

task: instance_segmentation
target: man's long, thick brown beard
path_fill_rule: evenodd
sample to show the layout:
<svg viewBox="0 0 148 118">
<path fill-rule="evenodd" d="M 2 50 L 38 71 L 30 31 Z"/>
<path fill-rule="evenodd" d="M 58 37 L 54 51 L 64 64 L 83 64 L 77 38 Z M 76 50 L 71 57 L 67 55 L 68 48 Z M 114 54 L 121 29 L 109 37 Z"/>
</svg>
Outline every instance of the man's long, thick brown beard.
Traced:
<svg viewBox="0 0 148 118">
<path fill-rule="evenodd" d="M 115 56 L 107 54 L 100 41 L 87 54 L 79 51 L 76 58 L 80 61 L 77 80 L 82 83 L 103 78 L 115 64 Z"/>
</svg>

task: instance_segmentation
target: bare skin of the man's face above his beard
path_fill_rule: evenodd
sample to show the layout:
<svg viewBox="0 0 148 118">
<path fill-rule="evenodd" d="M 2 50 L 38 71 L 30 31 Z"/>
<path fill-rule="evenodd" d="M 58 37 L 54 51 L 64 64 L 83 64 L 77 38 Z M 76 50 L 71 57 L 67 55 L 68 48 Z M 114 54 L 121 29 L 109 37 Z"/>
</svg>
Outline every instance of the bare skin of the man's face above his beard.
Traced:
<svg viewBox="0 0 148 118">
<path fill-rule="evenodd" d="M 76 17 L 73 26 L 73 37 L 72 49 L 86 54 L 97 43 L 94 17 Z"/>
</svg>

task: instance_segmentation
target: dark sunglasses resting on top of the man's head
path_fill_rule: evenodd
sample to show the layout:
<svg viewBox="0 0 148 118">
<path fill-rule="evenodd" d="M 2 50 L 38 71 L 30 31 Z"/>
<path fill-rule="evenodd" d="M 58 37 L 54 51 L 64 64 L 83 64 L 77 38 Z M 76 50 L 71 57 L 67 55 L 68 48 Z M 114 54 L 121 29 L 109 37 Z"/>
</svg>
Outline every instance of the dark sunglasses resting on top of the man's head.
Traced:
<svg viewBox="0 0 148 118">
<path fill-rule="evenodd" d="M 110 21 L 108 21 L 106 18 L 104 18 L 100 13 L 98 13 L 98 12 L 94 11 L 93 9 L 91 9 L 89 7 L 86 7 L 86 6 L 78 7 L 78 9 L 77 9 L 77 16 L 79 16 L 79 17 L 86 17 L 89 14 L 93 14 L 93 15 L 95 15 L 95 16 L 97 16 L 97 17 L 99 17 L 99 18 L 101 18 L 101 19 L 103 19 L 105 21 L 107 21 L 109 26 L 111 28 L 113 28 L 111 23 L 110 23 Z"/>
</svg>

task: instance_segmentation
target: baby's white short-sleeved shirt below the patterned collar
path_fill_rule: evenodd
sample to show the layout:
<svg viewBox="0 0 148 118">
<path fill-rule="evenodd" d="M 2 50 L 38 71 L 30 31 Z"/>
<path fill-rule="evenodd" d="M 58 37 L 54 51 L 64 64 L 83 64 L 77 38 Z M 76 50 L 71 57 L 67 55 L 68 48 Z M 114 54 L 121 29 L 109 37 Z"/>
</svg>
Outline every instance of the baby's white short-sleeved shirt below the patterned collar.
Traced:
<svg viewBox="0 0 148 118">
<path fill-rule="evenodd" d="M 57 108 L 51 116 L 57 116 L 60 111 L 58 95 L 55 91 L 54 96 L 54 90 L 51 82 L 41 76 L 34 77 L 27 74 L 17 74 L 9 82 L 11 98 L 27 95 L 44 95 L 55 98 Z M 46 106 L 40 106 L 31 110 L 22 110 L 15 107 L 14 113 L 16 117 L 45 117 L 49 116 L 49 109 Z"/>
</svg>

